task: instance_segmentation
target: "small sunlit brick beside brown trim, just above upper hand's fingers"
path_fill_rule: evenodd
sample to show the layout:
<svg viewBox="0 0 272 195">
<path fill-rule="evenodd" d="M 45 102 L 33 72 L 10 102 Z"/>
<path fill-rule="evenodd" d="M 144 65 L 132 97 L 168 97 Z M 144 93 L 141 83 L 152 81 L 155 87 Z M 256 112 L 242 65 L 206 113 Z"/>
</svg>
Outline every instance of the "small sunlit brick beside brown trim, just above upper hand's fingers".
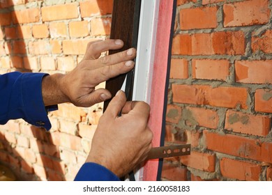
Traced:
<svg viewBox="0 0 272 195">
<path fill-rule="evenodd" d="M 91 36 L 108 36 L 111 24 L 111 18 L 96 18 L 91 20 Z"/>
</svg>

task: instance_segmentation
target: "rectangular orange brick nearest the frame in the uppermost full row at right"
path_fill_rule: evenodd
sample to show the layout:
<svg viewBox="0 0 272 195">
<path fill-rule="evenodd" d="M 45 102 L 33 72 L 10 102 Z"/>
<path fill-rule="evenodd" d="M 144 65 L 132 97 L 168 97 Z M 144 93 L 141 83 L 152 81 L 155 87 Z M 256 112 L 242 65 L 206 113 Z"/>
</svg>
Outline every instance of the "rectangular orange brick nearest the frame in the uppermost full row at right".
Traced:
<svg viewBox="0 0 272 195">
<path fill-rule="evenodd" d="M 185 8 L 179 10 L 181 30 L 216 28 L 217 11 L 218 7 Z"/>
</svg>

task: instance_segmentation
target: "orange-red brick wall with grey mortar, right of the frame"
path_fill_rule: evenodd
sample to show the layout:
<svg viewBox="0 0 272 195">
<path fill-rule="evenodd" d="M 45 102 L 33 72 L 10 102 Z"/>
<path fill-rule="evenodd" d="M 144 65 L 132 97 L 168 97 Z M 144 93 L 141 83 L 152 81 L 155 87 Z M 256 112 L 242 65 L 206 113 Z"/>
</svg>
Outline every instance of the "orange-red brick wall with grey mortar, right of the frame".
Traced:
<svg viewBox="0 0 272 195">
<path fill-rule="evenodd" d="M 272 180 L 269 0 L 178 0 L 163 180 Z"/>
</svg>

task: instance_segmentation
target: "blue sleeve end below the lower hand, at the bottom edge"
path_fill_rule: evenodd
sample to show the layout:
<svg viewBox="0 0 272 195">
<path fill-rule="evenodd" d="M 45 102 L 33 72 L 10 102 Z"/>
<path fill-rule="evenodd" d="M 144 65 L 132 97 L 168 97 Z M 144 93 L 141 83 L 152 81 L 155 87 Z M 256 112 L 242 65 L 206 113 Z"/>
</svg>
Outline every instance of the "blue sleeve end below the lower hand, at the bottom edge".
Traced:
<svg viewBox="0 0 272 195">
<path fill-rule="evenodd" d="M 119 178 L 100 164 L 87 162 L 75 176 L 75 181 L 120 181 Z"/>
</svg>

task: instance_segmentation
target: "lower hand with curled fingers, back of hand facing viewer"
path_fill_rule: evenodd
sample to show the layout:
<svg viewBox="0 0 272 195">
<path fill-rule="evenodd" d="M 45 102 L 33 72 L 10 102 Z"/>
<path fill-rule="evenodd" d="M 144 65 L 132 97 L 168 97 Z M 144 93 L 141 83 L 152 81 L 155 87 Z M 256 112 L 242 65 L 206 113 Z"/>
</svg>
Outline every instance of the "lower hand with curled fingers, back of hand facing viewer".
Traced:
<svg viewBox="0 0 272 195">
<path fill-rule="evenodd" d="M 125 176 L 151 150 L 153 134 L 146 125 L 148 118 L 148 104 L 126 102 L 125 93 L 119 91 L 99 120 L 86 162 L 95 162 L 116 176 Z"/>
</svg>

